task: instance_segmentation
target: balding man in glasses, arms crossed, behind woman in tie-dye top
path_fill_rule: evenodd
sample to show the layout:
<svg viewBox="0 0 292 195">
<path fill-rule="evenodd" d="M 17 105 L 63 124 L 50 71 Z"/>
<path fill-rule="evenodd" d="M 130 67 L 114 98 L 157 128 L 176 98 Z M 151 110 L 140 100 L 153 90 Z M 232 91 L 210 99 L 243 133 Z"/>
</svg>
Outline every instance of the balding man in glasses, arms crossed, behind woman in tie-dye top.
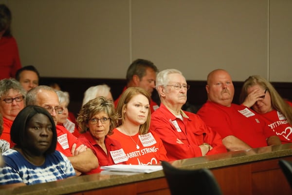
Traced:
<svg viewBox="0 0 292 195">
<path fill-rule="evenodd" d="M 71 161 L 76 175 L 87 173 L 98 167 L 98 160 L 92 150 L 73 136 L 65 127 L 57 125 L 58 115 L 63 109 L 53 88 L 39 85 L 27 93 L 26 105 L 37 105 L 45 108 L 53 117 L 57 131 L 56 150 L 63 153 Z"/>
</svg>

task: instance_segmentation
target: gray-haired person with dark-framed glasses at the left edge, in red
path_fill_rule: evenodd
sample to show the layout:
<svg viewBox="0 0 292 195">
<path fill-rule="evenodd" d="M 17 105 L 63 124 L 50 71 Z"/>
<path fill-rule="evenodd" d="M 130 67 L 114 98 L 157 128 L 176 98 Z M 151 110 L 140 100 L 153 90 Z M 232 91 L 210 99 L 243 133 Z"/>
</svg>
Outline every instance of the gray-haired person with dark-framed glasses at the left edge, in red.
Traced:
<svg viewBox="0 0 292 195">
<path fill-rule="evenodd" d="M 26 91 L 14 78 L 4 78 L 0 80 L 0 114 L 3 116 L 3 132 L 0 139 L 10 143 L 10 129 L 15 117 L 25 106 Z"/>
</svg>

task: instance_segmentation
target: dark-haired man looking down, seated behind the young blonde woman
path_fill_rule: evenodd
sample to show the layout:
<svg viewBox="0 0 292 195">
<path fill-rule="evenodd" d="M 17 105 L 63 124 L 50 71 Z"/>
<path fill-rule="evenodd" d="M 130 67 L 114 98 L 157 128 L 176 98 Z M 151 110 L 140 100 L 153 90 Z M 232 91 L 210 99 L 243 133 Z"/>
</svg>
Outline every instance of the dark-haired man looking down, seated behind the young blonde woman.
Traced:
<svg viewBox="0 0 292 195">
<path fill-rule="evenodd" d="M 141 87 L 145 89 L 149 95 L 152 95 L 155 88 L 155 78 L 158 69 L 153 62 L 146 59 L 136 59 L 128 67 L 127 71 L 127 86 L 124 87 L 123 92 L 128 87 Z M 117 98 L 114 101 L 114 106 L 117 107 L 118 101 L 121 98 Z M 155 101 L 151 99 L 150 110 L 153 113 L 159 106 Z"/>
</svg>

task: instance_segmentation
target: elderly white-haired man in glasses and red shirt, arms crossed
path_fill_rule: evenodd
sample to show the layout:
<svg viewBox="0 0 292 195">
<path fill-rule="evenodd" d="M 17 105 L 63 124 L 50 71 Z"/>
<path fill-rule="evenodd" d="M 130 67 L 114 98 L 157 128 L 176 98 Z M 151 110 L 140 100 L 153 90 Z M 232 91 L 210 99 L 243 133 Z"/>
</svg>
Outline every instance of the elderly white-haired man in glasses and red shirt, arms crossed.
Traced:
<svg viewBox="0 0 292 195">
<path fill-rule="evenodd" d="M 189 87 L 176 69 L 166 69 L 156 77 L 161 104 L 151 116 L 150 131 L 162 139 L 168 160 L 227 152 L 218 133 L 198 115 L 182 110 Z"/>
</svg>

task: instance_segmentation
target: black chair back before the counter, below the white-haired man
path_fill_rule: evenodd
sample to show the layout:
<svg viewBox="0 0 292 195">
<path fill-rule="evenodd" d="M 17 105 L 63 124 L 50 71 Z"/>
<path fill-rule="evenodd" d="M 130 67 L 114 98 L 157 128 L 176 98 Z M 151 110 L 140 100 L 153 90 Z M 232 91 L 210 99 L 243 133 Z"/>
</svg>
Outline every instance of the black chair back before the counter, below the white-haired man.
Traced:
<svg viewBox="0 0 292 195">
<path fill-rule="evenodd" d="M 209 169 L 178 169 L 166 161 L 161 164 L 171 195 L 222 195 Z"/>
</svg>

